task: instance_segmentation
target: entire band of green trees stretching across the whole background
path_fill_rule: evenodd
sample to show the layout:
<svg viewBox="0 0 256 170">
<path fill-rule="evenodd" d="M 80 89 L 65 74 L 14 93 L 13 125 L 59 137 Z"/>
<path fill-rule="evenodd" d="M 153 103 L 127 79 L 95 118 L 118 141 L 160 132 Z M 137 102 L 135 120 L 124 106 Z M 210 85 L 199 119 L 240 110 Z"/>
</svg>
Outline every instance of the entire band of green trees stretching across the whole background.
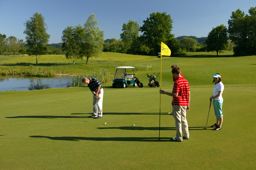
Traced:
<svg viewBox="0 0 256 170">
<path fill-rule="evenodd" d="M 50 35 L 46 32 L 47 24 L 42 14 L 36 12 L 24 23 L 26 42 L 0 34 L 0 54 L 10 56 L 27 53 L 36 56 L 37 60 L 38 55 L 65 53 L 67 59 L 73 59 L 73 63 L 75 58 L 83 57 L 88 63 L 89 58 L 98 57 L 102 51 L 158 56 L 162 41 L 172 51 L 171 56 L 186 54 L 188 51 L 216 51 L 218 55 L 222 50 L 233 50 L 235 56 L 256 55 L 256 7 L 250 8 L 249 15 L 240 9 L 232 12 L 228 28 L 223 24 L 217 26 L 207 38 L 174 38 L 174 34 L 171 34 L 172 23 L 171 16 L 166 12 L 153 12 L 141 27 L 137 21 L 124 23 L 121 40 L 112 38 L 104 41 L 104 31 L 97 27 L 98 21 L 92 13 L 83 27 L 79 24 L 63 30 L 63 43 L 48 45 Z M 139 32 L 142 35 L 139 36 Z"/>
</svg>

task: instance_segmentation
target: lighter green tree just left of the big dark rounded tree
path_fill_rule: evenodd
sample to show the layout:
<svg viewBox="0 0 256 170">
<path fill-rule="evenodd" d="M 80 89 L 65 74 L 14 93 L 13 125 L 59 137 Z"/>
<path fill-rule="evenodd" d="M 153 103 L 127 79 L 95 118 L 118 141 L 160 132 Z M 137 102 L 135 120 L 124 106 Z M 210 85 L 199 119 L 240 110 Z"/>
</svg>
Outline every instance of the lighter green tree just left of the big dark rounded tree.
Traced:
<svg viewBox="0 0 256 170">
<path fill-rule="evenodd" d="M 129 49 L 132 45 L 132 42 L 139 36 L 139 24 L 137 21 L 134 22 L 129 20 L 127 24 L 123 24 L 122 31 L 123 33 L 120 34 L 120 38 L 124 43 L 124 47 Z"/>
</svg>

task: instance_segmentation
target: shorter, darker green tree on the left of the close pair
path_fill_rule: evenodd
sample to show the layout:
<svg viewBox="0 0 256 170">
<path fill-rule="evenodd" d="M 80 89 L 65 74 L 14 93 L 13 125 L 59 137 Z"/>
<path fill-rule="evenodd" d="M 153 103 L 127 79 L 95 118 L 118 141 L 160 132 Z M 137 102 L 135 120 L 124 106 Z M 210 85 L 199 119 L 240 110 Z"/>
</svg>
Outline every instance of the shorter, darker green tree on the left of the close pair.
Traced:
<svg viewBox="0 0 256 170">
<path fill-rule="evenodd" d="M 66 59 L 73 58 L 73 64 L 75 64 L 75 58 L 83 57 L 80 52 L 83 37 L 84 29 L 80 24 L 75 27 L 68 26 L 62 32 L 62 50 L 66 52 Z"/>
</svg>

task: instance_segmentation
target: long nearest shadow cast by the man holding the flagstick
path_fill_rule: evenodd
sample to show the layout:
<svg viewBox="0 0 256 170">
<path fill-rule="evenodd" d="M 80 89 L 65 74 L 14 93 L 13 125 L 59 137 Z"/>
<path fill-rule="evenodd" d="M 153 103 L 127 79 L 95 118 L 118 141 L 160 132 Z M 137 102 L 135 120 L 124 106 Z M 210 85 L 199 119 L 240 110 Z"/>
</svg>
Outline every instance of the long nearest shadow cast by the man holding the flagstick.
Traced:
<svg viewBox="0 0 256 170">
<path fill-rule="evenodd" d="M 134 142 L 175 142 L 170 140 L 169 137 L 75 137 L 75 136 L 62 136 L 62 137 L 50 137 L 50 136 L 30 136 L 34 138 L 48 138 L 50 140 L 60 140 L 60 141 L 134 141 Z"/>
</svg>

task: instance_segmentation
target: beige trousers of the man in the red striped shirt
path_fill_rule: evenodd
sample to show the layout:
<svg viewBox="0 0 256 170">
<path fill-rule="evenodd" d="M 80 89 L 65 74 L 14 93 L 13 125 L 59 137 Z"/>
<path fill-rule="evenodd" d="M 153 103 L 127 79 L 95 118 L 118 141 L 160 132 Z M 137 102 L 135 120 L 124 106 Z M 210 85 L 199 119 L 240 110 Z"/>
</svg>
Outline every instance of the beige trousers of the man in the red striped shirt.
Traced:
<svg viewBox="0 0 256 170">
<path fill-rule="evenodd" d="M 176 139 L 179 141 L 182 141 L 182 131 L 183 136 L 189 138 L 186 109 L 187 106 L 172 105 L 172 115 L 176 126 Z"/>
</svg>

